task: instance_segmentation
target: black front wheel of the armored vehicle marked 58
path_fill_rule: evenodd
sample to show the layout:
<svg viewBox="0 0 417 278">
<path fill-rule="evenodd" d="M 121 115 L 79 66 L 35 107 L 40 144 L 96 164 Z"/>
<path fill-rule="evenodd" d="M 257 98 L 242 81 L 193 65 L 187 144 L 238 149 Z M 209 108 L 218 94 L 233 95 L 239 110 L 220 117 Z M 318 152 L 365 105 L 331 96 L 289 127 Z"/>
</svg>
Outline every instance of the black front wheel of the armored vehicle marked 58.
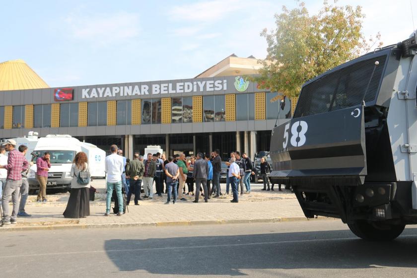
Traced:
<svg viewBox="0 0 417 278">
<path fill-rule="evenodd" d="M 384 221 L 368 222 L 355 220 L 348 224 L 349 229 L 356 236 L 369 241 L 390 241 L 397 238 L 406 227 L 405 224 L 389 224 Z"/>
</svg>

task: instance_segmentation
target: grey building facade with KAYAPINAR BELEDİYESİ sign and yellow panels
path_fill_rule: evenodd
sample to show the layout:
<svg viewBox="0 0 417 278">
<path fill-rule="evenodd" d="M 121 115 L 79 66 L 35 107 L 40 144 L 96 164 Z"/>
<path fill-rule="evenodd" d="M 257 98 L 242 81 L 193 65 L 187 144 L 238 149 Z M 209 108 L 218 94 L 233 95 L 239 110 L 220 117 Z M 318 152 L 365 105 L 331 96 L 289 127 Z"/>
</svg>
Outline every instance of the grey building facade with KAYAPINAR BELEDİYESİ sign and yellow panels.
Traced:
<svg viewBox="0 0 417 278">
<path fill-rule="evenodd" d="M 215 68 L 215 66 L 214 66 Z M 238 70 L 235 70 L 236 72 Z M 207 73 L 207 72 L 206 72 Z M 127 157 L 160 145 L 172 155 L 220 149 L 269 150 L 271 130 L 291 117 L 291 101 L 245 76 L 102 84 L 0 92 L 0 139 L 69 134 Z"/>
</svg>

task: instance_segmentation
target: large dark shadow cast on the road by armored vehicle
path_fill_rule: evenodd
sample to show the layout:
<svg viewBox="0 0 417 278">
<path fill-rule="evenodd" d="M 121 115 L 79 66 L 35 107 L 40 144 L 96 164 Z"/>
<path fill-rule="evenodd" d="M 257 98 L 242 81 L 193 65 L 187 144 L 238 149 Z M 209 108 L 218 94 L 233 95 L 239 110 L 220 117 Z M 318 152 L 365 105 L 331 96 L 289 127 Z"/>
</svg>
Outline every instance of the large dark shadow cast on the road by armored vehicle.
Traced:
<svg viewBox="0 0 417 278">
<path fill-rule="evenodd" d="M 173 234 L 175 236 L 175 234 Z M 417 228 L 392 242 L 367 242 L 348 230 L 174 237 L 105 242 L 120 271 L 160 275 L 246 275 L 243 269 L 414 268 Z"/>
</svg>

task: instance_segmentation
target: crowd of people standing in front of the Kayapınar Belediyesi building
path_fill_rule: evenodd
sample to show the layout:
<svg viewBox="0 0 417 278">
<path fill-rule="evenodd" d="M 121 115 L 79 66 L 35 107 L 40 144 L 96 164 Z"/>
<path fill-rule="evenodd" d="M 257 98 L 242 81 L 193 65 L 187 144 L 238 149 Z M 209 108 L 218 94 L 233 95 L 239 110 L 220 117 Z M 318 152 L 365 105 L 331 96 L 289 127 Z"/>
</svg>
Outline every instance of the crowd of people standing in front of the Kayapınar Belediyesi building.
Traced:
<svg viewBox="0 0 417 278">
<path fill-rule="evenodd" d="M 8 151 L 8 156 L 5 152 Z M 13 139 L 7 140 L 0 146 L 0 202 L 2 209 L 2 225 L 16 224 L 16 218 L 31 216 L 25 211 L 25 204 L 29 192 L 27 175 L 29 167 L 33 165 L 25 159 L 27 146 L 20 145 L 16 149 L 16 142 Z M 134 204 L 145 199 L 152 200 L 155 184 L 158 196 L 167 195 L 165 204 L 171 201 L 187 201 L 184 195 L 194 196 L 194 203 L 198 203 L 200 194 L 204 196 L 207 203 L 211 198 L 218 198 L 222 194 L 220 187 L 220 173 L 222 172 L 222 159 L 219 150 L 215 149 L 209 154 L 197 153 L 196 156 L 186 157 L 184 153 L 165 157 L 161 153 L 147 153 L 146 158 L 134 154 L 132 160 L 123 156 L 123 151 L 117 145 L 110 146 L 111 154 L 105 159 L 106 172 L 106 212 L 110 215 L 112 198 L 115 201 L 113 211 L 116 215 L 123 215 L 124 194 L 127 195 L 126 205 L 129 205 L 132 195 L 135 195 Z M 239 202 L 240 195 L 250 194 L 251 175 L 255 175 L 255 169 L 251 159 L 246 153 L 239 151 L 231 152 L 228 158 L 226 171 L 226 192 L 231 189 L 233 199 L 231 203 Z M 36 160 L 36 179 L 39 183 L 37 202 L 45 203 L 46 184 L 48 171 L 51 168 L 50 154 L 48 151 Z M 274 190 L 274 184 L 270 188 L 268 174 L 271 165 L 266 158 L 261 159 L 261 176 L 264 181 L 263 190 Z M 73 160 L 70 176 L 71 190 L 67 207 L 63 213 L 67 218 L 86 217 L 90 214 L 89 201 L 90 192 L 90 171 L 87 155 L 78 152 Z M 165 185 L 164 185 L 165 184 Z M 194 187 L 195 185 L 195 187 Z M 267 189 L 268 186 L 268 189 Z M 141 190 L 143 188 L 143 197 Z M 280 187 L 279 187 L 279 190 Z M 188 191 L 188 192 L 187 192 Z M 115 193 L 115 194 L 114 194 Z M 8 203 L 12 201 L 13 209 L 9 212 Z"/>
</svg>

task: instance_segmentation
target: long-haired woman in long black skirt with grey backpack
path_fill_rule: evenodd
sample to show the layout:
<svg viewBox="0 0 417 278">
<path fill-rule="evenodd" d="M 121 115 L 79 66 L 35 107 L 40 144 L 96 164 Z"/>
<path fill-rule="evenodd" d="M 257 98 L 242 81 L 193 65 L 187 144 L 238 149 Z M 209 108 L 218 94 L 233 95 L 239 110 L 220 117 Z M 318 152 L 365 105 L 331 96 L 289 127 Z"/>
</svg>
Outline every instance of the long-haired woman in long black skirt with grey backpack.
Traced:
<svg viewBox="0 0 417 278">
<path fill-rule="evenodd" d="M 78 152 L 72 163 L 70 176 L 71 193 L 67 208 L 64 211 L 66 218 L 81 218 L 90 215 L 90 170 L 85 152 Z"/>
</svg>

